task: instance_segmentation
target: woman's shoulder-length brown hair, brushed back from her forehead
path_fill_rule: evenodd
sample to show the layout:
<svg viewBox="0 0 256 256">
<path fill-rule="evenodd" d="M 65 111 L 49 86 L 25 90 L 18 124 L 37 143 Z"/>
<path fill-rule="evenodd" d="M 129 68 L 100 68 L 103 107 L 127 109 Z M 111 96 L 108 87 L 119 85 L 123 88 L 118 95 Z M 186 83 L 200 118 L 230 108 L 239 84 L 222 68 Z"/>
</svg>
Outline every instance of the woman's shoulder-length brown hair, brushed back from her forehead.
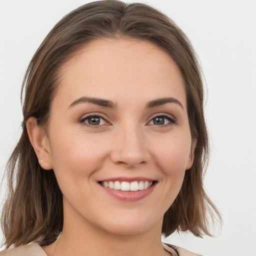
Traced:
<svg viewBox="0 0 256 256">
<path fill-rule="evenodd" d="M 166 51 L 179 67 L 196 145 L 192 167 L 186 170 L 181 190 L 164 214 L 162 233 L 167 236 L 175 230 L 189 230 L 196 236 L 210 235 L 207 214 L 214 218 L 219 213 L 202 184 L 208 138 L 202 75 L 195 52 L 175 23 L 153 7 L 103 0 L 85 4 L 64 16 L 43 40 L 25 73 L 21 92 L 23 130 L 6 165 L 9 190 L 2 213 L 6 247 L 34 240 L 49 244 L 62 230 L 62 194 L 53 170 L 43 171 L 38 163 L 28 139 L 26 121 L 34 116 L 39 125 L 47 125 L 63 63 L 93 39 L 109 37 L 150 41 Z"/>
</svg>

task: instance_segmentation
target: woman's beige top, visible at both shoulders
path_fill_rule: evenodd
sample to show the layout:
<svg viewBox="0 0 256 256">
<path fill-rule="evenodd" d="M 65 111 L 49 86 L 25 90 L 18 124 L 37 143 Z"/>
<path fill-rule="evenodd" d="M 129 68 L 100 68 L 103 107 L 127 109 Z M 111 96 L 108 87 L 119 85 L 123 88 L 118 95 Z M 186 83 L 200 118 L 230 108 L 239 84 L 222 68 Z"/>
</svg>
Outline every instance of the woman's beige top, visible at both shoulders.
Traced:
<svg viewBox="0 0 256 256">
<path fill-rule="evenodd" d="M 171 244 L 162 244 L 165 250 L 172 256 L 201 256 L 186 249 Z M 16 248 L 10 248 L 0 252 L 1 256 L 47 256 L 38 243 L 31 243 Z"/>
</svg>

